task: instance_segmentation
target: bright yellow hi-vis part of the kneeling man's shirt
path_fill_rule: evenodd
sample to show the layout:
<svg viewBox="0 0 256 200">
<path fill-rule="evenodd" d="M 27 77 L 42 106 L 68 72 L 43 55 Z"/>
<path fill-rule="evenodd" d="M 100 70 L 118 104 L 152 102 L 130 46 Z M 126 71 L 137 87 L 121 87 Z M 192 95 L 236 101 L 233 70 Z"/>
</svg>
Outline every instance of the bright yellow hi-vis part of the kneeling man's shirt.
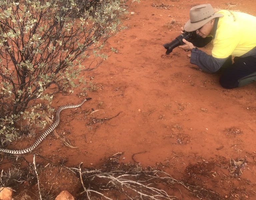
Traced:
<svg viewBox="0 0 256 200">
<path fill-rule="evenodd" d="M 212 56 L 227 58 L 230 55 L 242 56 L 256 47 L 256 17 L 228 10 L 220 10 Z"/>
</svg>

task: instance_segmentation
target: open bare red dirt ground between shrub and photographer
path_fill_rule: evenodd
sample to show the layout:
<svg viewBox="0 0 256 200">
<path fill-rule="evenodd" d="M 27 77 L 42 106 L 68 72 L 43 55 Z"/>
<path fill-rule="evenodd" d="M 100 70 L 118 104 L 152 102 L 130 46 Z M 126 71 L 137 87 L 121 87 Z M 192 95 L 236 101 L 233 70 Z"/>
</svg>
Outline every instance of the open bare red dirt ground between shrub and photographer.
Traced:
<svg viewBox="0 0 256 200">
<path fill-rule="evenodd" d="M 180 34 L 189 9 L 202 3 L 256 15 L 255 0 L 132 3 L 127 28 L 106 44 L 108 59 L 84 74 L 99 87 L 87 91 L 92 99 L 61 113 L 57 132 L 65 132 L 79 148 L 65 147 L 50 135 L 36 151 L 52 161 L 67 158 L 66 166 L 83 162 L 93 168 L 124 152 L 120 162 L 163 165 L 173 177 L 212 188 L 227 199 L 256 199 L 256 85 L 224 89 L 218 74 L 190 64 L 188 52 L 176 48 L 165 55 L 162 46 Z M 82 97 L 75 94 L 81 90 L 56 96 L 53 105 L 78 104 Z M 86 115 L 91 109 L 98 111 Z M 227 169 L 230 159 L 238 158 L 246 163 L 240 176 Z M 32 161 L 32 155 L 26 159 Z M 198 199 L 189 193 L 182 198 Z"/>
</svg>

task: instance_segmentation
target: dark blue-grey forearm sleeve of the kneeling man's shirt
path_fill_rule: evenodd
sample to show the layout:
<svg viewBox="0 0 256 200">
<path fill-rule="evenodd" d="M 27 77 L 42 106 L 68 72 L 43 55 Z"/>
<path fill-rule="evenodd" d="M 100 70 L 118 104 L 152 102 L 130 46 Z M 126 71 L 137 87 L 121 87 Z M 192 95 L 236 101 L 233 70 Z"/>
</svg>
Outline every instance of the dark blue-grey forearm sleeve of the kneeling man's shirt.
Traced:
<svg viewBox="0 0 256 200">
<path fill-rule="evenodd" d="M 191 51 L 190 63 L 197 65 L 205 72 L 213 73 L 221 68 L 227 58 L 215 58 L 197 48 L 193 48 Z"/>
</svg>

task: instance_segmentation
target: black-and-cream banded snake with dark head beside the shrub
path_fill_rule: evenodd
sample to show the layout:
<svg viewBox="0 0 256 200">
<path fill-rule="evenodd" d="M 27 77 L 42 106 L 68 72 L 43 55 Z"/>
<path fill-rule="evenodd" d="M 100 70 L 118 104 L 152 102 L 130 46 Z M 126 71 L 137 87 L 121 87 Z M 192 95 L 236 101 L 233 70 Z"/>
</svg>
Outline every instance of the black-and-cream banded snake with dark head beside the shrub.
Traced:
<svg viewBox="0 0 256 200">
<path fill-rule="evenodd" d="M 51 133 L 60 123 L 60 112 L 64 109 L 67 108 L 77 108 L 80 107 L 85 101 L 90 100 L 91 98 L 88 97 L 86 99 L 84 99 L 81 103 L 77 104 L 77 105 L 64 105 L 64 106 L 60 106 L 58 108 L 58 110 L 56 111 L 56 119 L 55 121 L 51 124 L 51 126 L 44 131 L 40 137 L 28 148 L 26 149 L 21 149 L 21 150 L 13 150 L 13 149 L 4 149 L 4 148 L 0 148 L 0 152 L 5 152 L 5 153 L 10 153 L 10 154 L 24 154 L 24 153 L 28 153 L 31 152 L 33 149 L 35 149 L 42 141 L 43 139 L 49 134 Z"/>
</svg>

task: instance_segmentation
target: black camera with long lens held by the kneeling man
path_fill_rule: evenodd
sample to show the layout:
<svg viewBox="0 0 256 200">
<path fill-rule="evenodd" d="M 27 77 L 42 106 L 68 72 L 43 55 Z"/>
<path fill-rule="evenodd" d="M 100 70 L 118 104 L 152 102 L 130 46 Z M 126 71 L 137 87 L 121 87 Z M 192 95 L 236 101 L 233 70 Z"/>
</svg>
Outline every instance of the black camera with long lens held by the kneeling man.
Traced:
<svg viewBox="0 0 256 200">
<path fill-rule="evenodd" d="M 186 32 L 184 31 L 184 33 L 180 34 L 178 37 L 176 37 L 173 41 L 171 41 L 170 43 L 165 43 L 163 46 L 165 49 L 167 49 L 167 51 L 165 52 L 165 54 L 169 54 L 172 52 L 172 50 L 179 46 L 184 44 L 184 42 L 182 42 L 182 39 L 184 38 L 187 41 L 190 41 L 192 39 L 195 39 L 197 37 L 196 31 L 192 31 L 192 32 Z"/>
</svg>

